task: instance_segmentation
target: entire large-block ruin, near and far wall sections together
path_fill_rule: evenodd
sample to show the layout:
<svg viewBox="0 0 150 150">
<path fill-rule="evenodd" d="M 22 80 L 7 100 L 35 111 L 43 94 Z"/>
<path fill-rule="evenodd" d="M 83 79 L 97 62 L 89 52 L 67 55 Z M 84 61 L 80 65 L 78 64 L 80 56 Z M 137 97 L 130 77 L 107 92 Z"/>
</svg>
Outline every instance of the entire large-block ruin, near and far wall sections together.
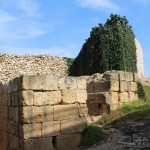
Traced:
<svg viewBox="0 0 150 150">
<path fill-rule="evenodd" d="M 72 150 L 90 115 L 136 100 L 138 75 L 22 75 L 0 84 L 0 150 Z"/>
</svg>

